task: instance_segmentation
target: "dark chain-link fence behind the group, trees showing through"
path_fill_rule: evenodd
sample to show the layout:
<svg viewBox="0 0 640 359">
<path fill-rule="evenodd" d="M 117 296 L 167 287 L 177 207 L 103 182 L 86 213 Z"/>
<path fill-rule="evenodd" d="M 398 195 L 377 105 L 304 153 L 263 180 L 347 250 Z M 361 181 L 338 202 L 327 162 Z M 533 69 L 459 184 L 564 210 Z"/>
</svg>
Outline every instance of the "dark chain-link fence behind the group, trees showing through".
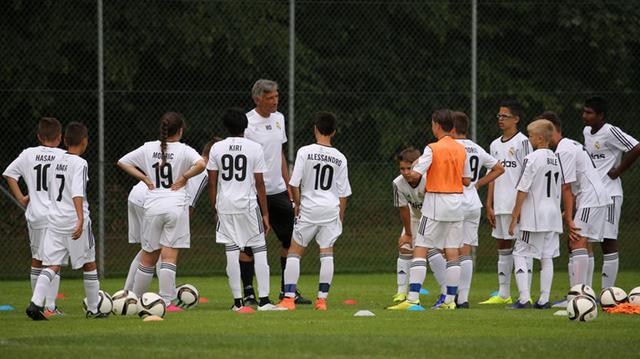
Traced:
<svg viewBox="0 0 640 359">
<path fill-rule="evenodd" d="M 433 140 L 433 109 L 471 111 L 472 2 L 295 1 L 291 59 L 290 2 L 105 1 L 104 213 L 97 203 L 99 3 L 16 0 L 2 5 L 5 150 L 0 167 L 36 145 L 41 116 L 89 126 L 89 195 L 93 222 L 104 216 L 106 275 L 125 273 L 139 249 L 126 238 L 127 194 L 134 180 L 115 167 L 118 158 L 155 139 L 158 119 L 168 110 L 185 115 L 184 141 L 197 149 L 214 135 L 225 136 L 220 114 L 231 106 L 251 109 L 249 91 L 258 78 L 280 83 L 279 109 L 288 119 L 295 115 L 290 143 L 296 149 L 313 141 L 313 112 L 339 116 L 335 145 L 349 159 L 353 196 L 336 245 L 336 269 L 395 268 L 401 224 L 392 206 L 391 181 L 398 173 L 394 155 Z M 565 134 L 582 141 L 582 101 L 601 94 L 610 102 L 609 121 L 640 137 L 635 121 L 640 74 L 634 66 L 640 55 L 639 6 L 479 1 L 476 9 L 480 145 L 487 148 L 499 135 L 494 115 L 506 97 L 524 104 L 527 120 L 543 109 L 555 110 L 565 121 Z M 295 65 L 294 113 L 289 111 L 290 63 Z M 636 164 L 623 176 L 624 268 L 639 263 L 639 175 Z M 23 213 L 6 195 L 0 198 L 0 278 L 24 277 L 29 247 Z M 224 250 L 214 243 L 206 196 L 191 228 L 192 247 L 181 253 L 180 274 L 222 273 Z M 480 237 L 478 268 L 492 269 L 496 251 L 486 224 Z M 272 237 L 269 243 L 277 271 L 278 242 Z M 317 268 L 312 253 L 303 270 Z"/>
</svg>

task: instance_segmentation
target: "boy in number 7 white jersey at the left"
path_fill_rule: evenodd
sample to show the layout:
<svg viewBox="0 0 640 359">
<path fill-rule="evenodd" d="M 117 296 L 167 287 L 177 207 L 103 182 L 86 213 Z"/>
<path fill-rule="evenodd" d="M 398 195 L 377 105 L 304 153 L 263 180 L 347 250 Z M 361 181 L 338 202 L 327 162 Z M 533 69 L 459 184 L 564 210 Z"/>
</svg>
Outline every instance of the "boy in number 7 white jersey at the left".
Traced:
<svg viewBox="0 0 640 359">
<path fill-rule="evenodd" d="M 91 233 L 87 202 L 87 161 L 80 157 L 89 143 L 87 127 L 78 122 L 67 125 L 64 134 L 67 152 L 51 163 L 47 187 L 49 191 L 49 224 L 42 241 L 44 268 L 27 308 L 33 320 L 46 319 L 42 312 L 46 293 L 60 267 L 71 261 L 71 268 L 84 270 L 84 290 L 87 297 L 87 318 L 105 318 L 98 311 L 100 282 L 95 261 L 95 240 Z"/>
</svg>

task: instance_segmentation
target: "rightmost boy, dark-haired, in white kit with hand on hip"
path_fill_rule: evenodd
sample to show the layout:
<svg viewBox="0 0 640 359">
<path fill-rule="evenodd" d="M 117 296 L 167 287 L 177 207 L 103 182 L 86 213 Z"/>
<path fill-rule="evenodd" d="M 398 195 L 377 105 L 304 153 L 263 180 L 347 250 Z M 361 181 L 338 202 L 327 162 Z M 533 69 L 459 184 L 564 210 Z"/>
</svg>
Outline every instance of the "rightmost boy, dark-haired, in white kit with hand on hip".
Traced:
<svg viewBox="0 0 640 359">
<path fill-rule="evenodd" d="M 607 103 L 601 97 L 587 99 L 582 111 L 584 145 L 591 154 L 613 204 L 604 225 L 602 289 L 615 285 L 618 275 L 618 227 L 622 209 L 620 175 L 640 156 L 638 141 L 620 128 L 606 123 Z M 591 262 L 591 261 L 590 261 Z"/>
</svg>

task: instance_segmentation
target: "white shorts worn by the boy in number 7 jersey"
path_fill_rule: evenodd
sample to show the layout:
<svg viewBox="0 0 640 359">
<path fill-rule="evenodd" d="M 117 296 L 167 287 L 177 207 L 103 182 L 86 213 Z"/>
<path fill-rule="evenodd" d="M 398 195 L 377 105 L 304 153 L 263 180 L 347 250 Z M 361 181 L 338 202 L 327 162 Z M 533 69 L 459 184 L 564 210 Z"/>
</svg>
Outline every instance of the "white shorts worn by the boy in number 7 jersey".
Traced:
<svg viewBox="0 0 640 359">
<path fill-rule="evenodd" d="M 96 261 L 95 244 L 90 221 L 84 226 L 80 238 L 76 240 L 71 239 L 71 233 L 59 233 L 48 229 L 40 251 L 42 264 L 66 265 L 71 260 L 71 268 L 80 269 L 83 265 Z"/>
</svg>

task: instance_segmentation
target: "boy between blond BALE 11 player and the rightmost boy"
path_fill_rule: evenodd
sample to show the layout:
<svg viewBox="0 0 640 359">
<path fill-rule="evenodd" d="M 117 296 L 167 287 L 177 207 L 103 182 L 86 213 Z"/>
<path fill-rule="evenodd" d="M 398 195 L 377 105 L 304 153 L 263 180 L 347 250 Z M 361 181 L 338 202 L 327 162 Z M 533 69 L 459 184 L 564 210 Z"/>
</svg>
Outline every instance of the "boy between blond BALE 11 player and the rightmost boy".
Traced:
<svg viewBox="0 0 640 359">
<path fill-rule="evenodd" d="M 589 257 L 593 257 L 593 250 L 590 242 L 602 242 L 608 206 L 613 201 L 586 148 L 562 137 L 562 122 L 558 115 L 547 111 L 538 118 L 553 123 L 551 145 L 556 147 L 564 174 L 562 200 L 564 221 L 569 229 L 569 285 L 591 286 L 593 267 L 589 272 Z"/>
</svg>

